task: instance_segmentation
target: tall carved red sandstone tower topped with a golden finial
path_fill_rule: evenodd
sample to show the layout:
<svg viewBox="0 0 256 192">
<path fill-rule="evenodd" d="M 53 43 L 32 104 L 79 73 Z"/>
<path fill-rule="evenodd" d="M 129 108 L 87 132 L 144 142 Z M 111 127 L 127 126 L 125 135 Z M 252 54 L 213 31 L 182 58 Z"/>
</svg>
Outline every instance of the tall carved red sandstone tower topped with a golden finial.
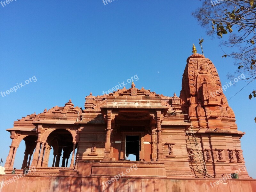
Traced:
<svg viewBox="0 0 256 192">
<path fill-rule="evenodd" d="M 194 44 L 192 52 L 182 78 L 181 109 L 201 145 L 208 173 L 221 177 L 245 166 L 239 140 L 245 133 L 237 130 L 216 67 L 204 55 L 196 53 Z M 249 178 L 246 171 L 239 175 Z"/>
</svg>

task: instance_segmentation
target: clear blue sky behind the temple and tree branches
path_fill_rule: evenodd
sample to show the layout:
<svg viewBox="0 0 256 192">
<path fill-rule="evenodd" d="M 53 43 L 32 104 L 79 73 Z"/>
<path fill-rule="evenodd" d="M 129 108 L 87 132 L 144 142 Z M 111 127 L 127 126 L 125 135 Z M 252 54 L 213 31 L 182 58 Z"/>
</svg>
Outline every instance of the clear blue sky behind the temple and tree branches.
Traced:
<svg viewBox="0 0 256 192">
<path fill-rule="evenodd" d="M 229 82 L 233 60 L 224 54 L 219 40 L 206 36 L 191 12 L 201 1 L 98 0 L 12 1 L 0 5 L 0 91 L 35 76 L 26 86 L 5 97 L 0 95 L 0 158 L 5 163 L 13 121 L 44 108 L 64 106 L 71 98 L 84 108 L 85 96 L 101 95 L 119 82 L 137 75 L 136 87 L 158 94 L 179 95 L 182 74 L 194 43 L 205 42 L 204 55 L 215 64 L 222 85 Z M 210 3 L 210 1 L 209 1 Z M 225 92 L 231 98 L 244 85 L 239 81 Z M 130 86 L 130 85 L 129 85 Z M 249 84 L 228 101 L 236 114 L 249 175 L 256 178 L 255 101 Z M 20 167 L 24 143 L 14 166 Z"/>
</svg>

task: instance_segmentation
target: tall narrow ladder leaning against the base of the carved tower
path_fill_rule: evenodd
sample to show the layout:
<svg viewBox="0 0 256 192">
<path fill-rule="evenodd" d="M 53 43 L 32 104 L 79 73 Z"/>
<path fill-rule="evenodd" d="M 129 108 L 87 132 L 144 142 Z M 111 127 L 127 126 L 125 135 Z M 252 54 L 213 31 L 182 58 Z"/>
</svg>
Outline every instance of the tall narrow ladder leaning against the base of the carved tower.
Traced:
<svg viewBox="0 0 256 192">
<path fill-rule="evenodd" d="M 188 116 L 188 114 L 184 114 L 184 115 Z M 203 156 L 203 153 L 200 150 L 200 147 L 199 147 L 198 142 L 196 140 L 196 137 L 195 137 L 195 134 L 194 134 L 194 131 L 193 131 L 193 128 L 192 128 L 192 122 L 190 121 L 189 116 L 188 116 L 188 121 L 190 123 L 191 130 L 189 130 L 189 131 L 187 130 L 186 133 L 188 135 L 188 141 L 189 141 L 190 146 L 191 146 L 190 151 L 192 151 L 192 154 L 190 154 L 189 156 L 194 156 L 194 160 L 195 160 L 195 163 L 196 163 L 196 167 L 190 167 L 190 168 L 192 170 L 204 175 L 205 177 L 213 178 L 207 172 L 206 165 L 205 165 L 205 162 L 204 162 L 204 156 Z"/>
</svg>

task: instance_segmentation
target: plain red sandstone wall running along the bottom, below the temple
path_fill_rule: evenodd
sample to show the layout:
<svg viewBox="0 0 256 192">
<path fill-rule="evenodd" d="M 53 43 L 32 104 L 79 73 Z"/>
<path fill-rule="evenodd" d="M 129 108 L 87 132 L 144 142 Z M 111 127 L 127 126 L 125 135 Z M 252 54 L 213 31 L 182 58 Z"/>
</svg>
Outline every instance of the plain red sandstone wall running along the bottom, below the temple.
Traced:
<svg viewBox="0 0 256 192">
<path fill-rule="evenodd" d="M 0 183 L 13 178 L 13 175 L 1 175 Z M 120 178 L 111 184 L 102 183 L 111 180 L 104 177 L 44 177 L 23 176 L 15 182 L 0 186 L 0 192 L 256 192 L 256 180 L 227 180 L 211 187 L 217 179 L 141 179 Z M 6 183 L 6 182 L 5 182 Z"/>
</svg>

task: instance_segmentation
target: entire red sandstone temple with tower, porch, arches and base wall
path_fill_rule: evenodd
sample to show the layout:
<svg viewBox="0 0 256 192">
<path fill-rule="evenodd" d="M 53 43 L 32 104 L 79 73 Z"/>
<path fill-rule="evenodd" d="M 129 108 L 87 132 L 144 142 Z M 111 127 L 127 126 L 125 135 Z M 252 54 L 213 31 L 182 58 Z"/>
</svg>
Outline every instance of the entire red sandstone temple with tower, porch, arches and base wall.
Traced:
<svg viewBox="0 0 256 192">
<path fill-rule="evenodd" d="M 180 97 L 132 83 L 108 95 L 90 93 L 84 109 L 69 100 L 22 117 L 7 129 L 12 143 L 0 191 L 255 191 L 240 145 L 245 133 L 221 86 L 212 61 L 193 46 Z M 22 140 L 16 173 L 33 171 L 7 184 Z M 234 172 L 239 179 L 217 184 Z"/>
</svg>

